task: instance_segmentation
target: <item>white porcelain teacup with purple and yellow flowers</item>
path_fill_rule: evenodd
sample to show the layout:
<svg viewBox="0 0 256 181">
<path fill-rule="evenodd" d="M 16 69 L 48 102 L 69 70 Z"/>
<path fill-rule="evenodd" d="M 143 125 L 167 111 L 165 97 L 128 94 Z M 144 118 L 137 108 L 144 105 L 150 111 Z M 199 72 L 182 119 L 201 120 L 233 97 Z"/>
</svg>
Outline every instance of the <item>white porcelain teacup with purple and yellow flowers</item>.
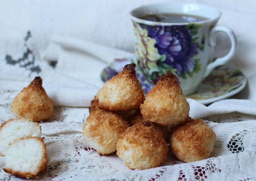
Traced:
<svg viewBox="0 0 256 181">
<path fill-rule="evenodd" d="M 140 17 L 152 13 L 175 13 L 205 17 L 191 23 L 154 22 Z M 138 65 L 148 81 L 156 83 L 160 76 L 172 70 L 185 95 L 192 94 L 206 76 L 226 64 L 236 53 L 234 32 L 216 26 L 221 12 L 208 5 L 190 3 L 161 3 L 139 7 L 130 12 L 135 36 Z M 231 40 L 229 53 L 213 60 L 216 33 L 224 32 Z"/>
</svg>

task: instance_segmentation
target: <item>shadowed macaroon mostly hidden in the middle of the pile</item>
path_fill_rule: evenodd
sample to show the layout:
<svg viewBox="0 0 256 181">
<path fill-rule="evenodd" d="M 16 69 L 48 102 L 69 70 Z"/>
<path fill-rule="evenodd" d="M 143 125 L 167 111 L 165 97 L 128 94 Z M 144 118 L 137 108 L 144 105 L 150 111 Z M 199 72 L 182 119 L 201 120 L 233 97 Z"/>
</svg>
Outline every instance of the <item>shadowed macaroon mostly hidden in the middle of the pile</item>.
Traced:
<svg viewBox="0 0 256 181">
<path fill-rule="evenodd" d="M 142 114 L 140 113 L 140 110 L 136 110 L 128 119 L 128 123 L 130 126 L 135 125 L 136 123 L 141 123 L 141 122 L 150 122 L 147 119 L 143 118 Z M 164 136 L 165 139 L 170 138 L 171 134 L 171 129 L 172 126 L 162 126 L 157 123 L 152 123 Z"/>
</svg>

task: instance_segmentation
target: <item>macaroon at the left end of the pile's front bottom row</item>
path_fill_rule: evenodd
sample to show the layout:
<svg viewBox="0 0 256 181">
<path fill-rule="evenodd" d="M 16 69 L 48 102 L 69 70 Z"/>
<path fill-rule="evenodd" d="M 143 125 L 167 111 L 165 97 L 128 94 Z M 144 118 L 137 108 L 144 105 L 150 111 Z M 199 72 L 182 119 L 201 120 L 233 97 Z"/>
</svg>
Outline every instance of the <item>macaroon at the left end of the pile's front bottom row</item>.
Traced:
<svg viewBox="0 0 256 181">
<path fill-rule="evenodd" d="M 129 127 L 121 116 L 106 110 L 95 110 L 87 117 L 83 128 L 84 141 L 100 155 L 116 151 L 116 142 Z"/>
</svg>

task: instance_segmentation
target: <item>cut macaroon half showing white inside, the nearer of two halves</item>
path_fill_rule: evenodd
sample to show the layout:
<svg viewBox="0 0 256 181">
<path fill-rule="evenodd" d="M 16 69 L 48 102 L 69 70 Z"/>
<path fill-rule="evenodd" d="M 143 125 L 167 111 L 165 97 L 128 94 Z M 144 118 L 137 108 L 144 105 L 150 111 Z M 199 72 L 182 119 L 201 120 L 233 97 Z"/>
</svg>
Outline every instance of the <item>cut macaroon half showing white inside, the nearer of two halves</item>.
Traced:
<svg viewBox="0 0 256 181">
<path fill-rule="evenodd" d="M 21 138 L 10 145 L 5 155 L 4 171 L 22 178 L 34 178 L 47 170 L 43 138 Z"/>
</svg>

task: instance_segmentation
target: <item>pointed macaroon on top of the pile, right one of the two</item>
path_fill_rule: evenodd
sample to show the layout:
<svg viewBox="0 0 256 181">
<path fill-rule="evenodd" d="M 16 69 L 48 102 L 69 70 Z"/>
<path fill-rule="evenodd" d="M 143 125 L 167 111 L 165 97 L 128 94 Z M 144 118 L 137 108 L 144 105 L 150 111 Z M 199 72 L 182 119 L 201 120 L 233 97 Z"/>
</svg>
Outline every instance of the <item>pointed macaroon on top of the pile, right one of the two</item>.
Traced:
<svg viewBox="0 0 256 181">
<path fill-rule="evenodd" d="M 144 118 L 164 126 L 182 123 L 188 118 L 188 101 L 171 71 L 160 77 L 148 92 L 140 110 Z"/>
</svg>

